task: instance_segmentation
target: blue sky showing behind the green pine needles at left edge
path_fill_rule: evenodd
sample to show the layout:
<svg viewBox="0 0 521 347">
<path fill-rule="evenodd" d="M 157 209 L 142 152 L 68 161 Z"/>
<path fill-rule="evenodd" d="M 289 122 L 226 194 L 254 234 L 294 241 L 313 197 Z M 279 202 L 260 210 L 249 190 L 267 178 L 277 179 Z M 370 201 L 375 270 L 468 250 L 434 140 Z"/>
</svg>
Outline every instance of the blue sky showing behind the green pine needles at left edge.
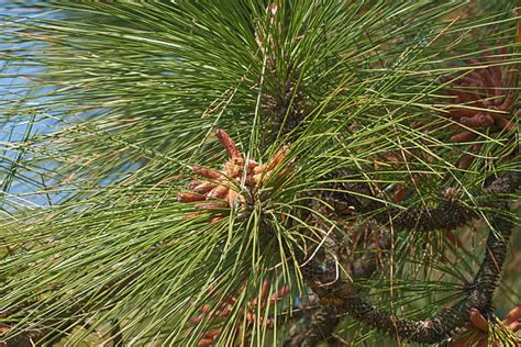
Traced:
<svg viewBox="0 0 521 347">
<path fill-rule="evenodd" d="M 36 208 L 48 205 L 58 197 L 35 193 L 44 186 L 45 175 L 26 174 L 23 165 L 27 160 L 37 159 L 24 145 L 37 135 L 49 131 L 51 122 L 34 111 L 40 103 L 46 101 L 41 97 L 47 90 L 35 90 L 30 76 L 41 71 L 41 67 L 21 66 L 12 59 L 20 56 L 23 49 L 41 49 L 31 43 L 13 43 L 11 41 L 11 21 L 21 21 L 32 15 L 41 15 L 27 4 L 38 1 L 0 0 L 0 212 L 12 213 L 19 208 Z M 42 167 L 42 172 L 49 168 Z M 40 177 L 38 177 L 40 176 Z"/>
</svg>

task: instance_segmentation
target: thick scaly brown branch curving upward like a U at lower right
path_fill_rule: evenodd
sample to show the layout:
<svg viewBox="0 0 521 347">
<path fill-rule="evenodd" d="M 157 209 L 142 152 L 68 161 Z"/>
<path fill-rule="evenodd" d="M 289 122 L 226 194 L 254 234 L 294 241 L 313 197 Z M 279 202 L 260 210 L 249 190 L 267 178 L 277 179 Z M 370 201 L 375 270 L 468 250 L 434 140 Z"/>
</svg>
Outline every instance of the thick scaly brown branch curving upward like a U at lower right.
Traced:
<svg viewBox="0 0 521 347">
<path fill-rule="evenodd" d="M 519 184 L 519 175 L 505 176 L 486 188 L 485 194 L 512 193 Z M 494 202 L 489 201 L 487 205 L 491 203 Z M 507 202 L 494 204 L 499 209 L 508 209 Z M 417 214 L 419 217 L 422 215 L 432 216 L 433 214 Z M 494 231 L 489 233 L 484 261 L 472 286 L 466 288 L 465 298 L 452 307 L 442 310 L 436 316 L 424 321 L 400 318 L 373 306 L 359 296 L 351 281 L 339 280 L 324 287 L 322 283 L 325 276 L 331 277 L 331 275 L 318 275 L 317 271 L 310 270 L 304 271 L 304 275 L 308 283 L 322 300 L 326 299 L 328 302 L 334 303 L 341 312 L 347 313 L 353 318 L 401 339 L 428 344 L 440 343 L 468 322 L 470 309 L 477 309 L 486 314 L 491 310 L 491 298 L 499 283 L 513 224 L 503 216 L 496 215 L 491 225 L 497 233 Z"/>
</svg>

